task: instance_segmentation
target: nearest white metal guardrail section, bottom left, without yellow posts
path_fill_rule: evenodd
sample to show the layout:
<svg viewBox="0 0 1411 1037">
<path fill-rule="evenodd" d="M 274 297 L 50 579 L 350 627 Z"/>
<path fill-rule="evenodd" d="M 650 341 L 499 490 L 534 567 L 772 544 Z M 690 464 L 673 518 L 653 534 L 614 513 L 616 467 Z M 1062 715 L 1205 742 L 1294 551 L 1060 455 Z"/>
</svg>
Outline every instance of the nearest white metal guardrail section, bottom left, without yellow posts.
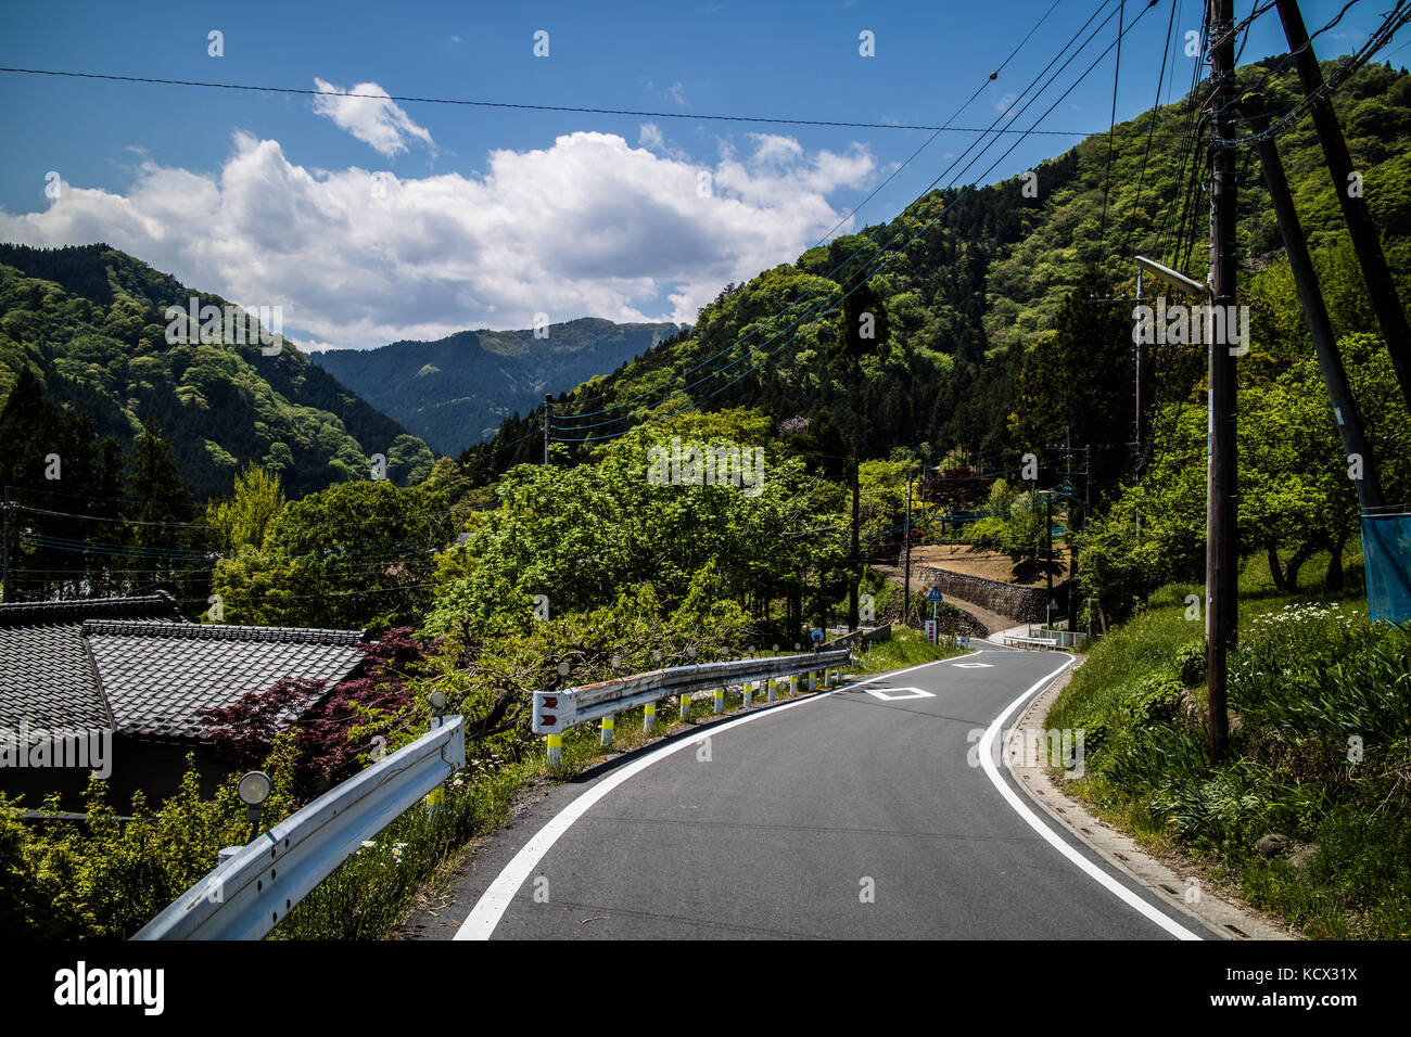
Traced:
<svg viewBox="0 0 1411 1037">
<path fill-rule="evenodd" d="M 466 721 L 446 721 L 258 835 L 133 940 L 258 940 L 364 839 L 466 766 Z"/>
</svg>

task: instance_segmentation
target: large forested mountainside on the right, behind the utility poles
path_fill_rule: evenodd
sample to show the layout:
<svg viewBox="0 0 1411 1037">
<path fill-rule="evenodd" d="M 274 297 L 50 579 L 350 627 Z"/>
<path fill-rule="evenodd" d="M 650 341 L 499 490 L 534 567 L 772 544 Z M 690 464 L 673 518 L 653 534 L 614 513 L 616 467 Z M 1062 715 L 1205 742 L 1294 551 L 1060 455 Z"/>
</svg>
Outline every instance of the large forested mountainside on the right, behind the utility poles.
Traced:
<svg viewBox="0 0 1411 1037">
<path fill-rule="evenodd" d="M 1326 62 L 1325 73 L 1333 68 Z M 1239 76 L 1256 95 L 1250 102 L 1276 116 L 1302 99 L 1281 59 L 1246 65 Z M 810 419 L 797 443 L 820 461 L 847 453 L 854 387 L 828 357 L 841 293 L 871 274 L 890 341 L 862 360 L 864 457 L 909 447 L 940 459 L 958 449 L 982 467 L 1002 467 L 1033 450 L 1047 466 L 1051 444 L 1068 436 L 1074 446 L 1092 444 L 1096 485 L 1129 478 L 1143 463 L 1129 446 L 1132 303 L 1098 299 L 1134 293 L 1137 254 L 1205 278 L 1209 199 L 1205 155 L 1194 147 L 1204 124 L 1192 133 L 1202 99 L 1197 92 L 1118 124 L 1110 159 L 1109 135 L 1098 134 L 1036 166 L 1033 178 L 933 190 L 885 224 L 727 286 L 687 332 L 562 396 L 557 436 L 570 456 L 584 456 L 635 423 L 684 408 L 746 406 L 776 422 Z M 1411 299 L 1411 78 L 1364 66 L 1333 104 L 1388 262 L 1403 278 L 1403 301 Z M 1335 248 L 1346 230 L 1311 119 L 1283 131 L 1278 148 L 1309 244 Z M 1253 150 L 1239 158 L 1239 251 L 1243 274 L 1253 275 L 1283 243 Z M 1051 356 L 1055 336 L 1082 327 L 1092 332 L 1086 353 Z M 1156 405 L 1197 389 L 1198 353 L 1173 346 L 1147 357 L 1147 422 Z M 1046 378 L 1068 388 L 1044 391 Z M 532 416 L 507 420 L 495 440 L 463 456 L 470 475 L 491 481 L 535 460 L 542 447 L 533 430 Z M 1153 440 L 1149 423 L 1141 439 Z"/>
</svg>

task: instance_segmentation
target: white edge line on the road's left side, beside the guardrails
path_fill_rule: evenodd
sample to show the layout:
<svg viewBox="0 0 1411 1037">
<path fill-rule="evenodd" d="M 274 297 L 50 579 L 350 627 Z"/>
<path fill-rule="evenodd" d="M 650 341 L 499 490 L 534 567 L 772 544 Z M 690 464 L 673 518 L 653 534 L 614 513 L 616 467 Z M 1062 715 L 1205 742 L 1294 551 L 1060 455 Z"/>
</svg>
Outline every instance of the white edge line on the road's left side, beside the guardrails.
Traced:
<svg viewBox="0 0 1411 1037">
<path fill-rule="evenodd" d="M 935 666 L 937 663 L 944 663 L 944 662 L 947 660 L 935 659 L 928 663 L 920 663 L 919 666 L 909 666 L 904 670 L 888 670 L 886 673 L 879 673 L 875 677 L 868 677 L 866 680 L 855 680 L 847 687 L 854 689 L 859 687 L 861 684 L 871 684 L 872 681 L 882 680 L 883 677 L 896 677 L 903 673 L 910 673 L 912 670 L 920 670 L 926 666 Z M 817 703 L 823 698 L 827 698 L 828 696 L 837 694 L 838 691 L 844 690 L 847 689 L 834 689 L 832 691 L 814 694 L 810 696 L 809 698 L 799 698 L 793 703 L 783 703 L 782 705 L 776 705 L 772 710 L 759 710 L 758 712 L 749 712 L 737 720 L 725 721 L 724 724 L 713 724 L 708 728 L 706 728 L 703 734 L 714 735 L 721 731 L 728 731 L 732 727 L 748 724 L 749 721 L 759 720 L 761 717 L 773 717 L 782 712 L 783 710 L 792 710 L 797 705 L 807 705 L 809 703 Z M 663 698 L 667 696 L 663 696 Z M 1013 707 L 1010 707 L 1010 710 L 1013 710 Z M 573 825 L 574 821 L 583 817 L 598 800 L 601 800 L 604 796 L 617 789 L 629 777 L 639 775 L 658 760 L 666 759 L 673 752 L 680 752 L 682 749 L 696 745 L 698 741 L 700 741 L 698 738 L 690 738 L 690 736 L 677 738 L 669 745 L 663 745 L 662 748 L 649 752 L 646 756 L 642 756 L 642 759 L 628 763 L 621 770 L 617 770 L 604 777 L 591 789 L 584 790 L 581 796 L 573 800 L 573 803 L 570 803 L 567 807 L 564 807 L 552 818 L 549 818 L 549 821 L 545 823 L 543 828 L 535 832 L 533 838 L 531 838 L 523 847 L 521 847 L 519 852 L 515 854 L 514 858 L 509 861 L 509 863 L 504 866 L 504 871 L 501 871 L 499 875 L 495 876 L 495 880 L 490 883 L 490 889 L 487 889 L 484 893 L 480 895 L 480 900 L 476 902 L 476 906 L 466 917 L 466 921 L 463 921 L 460 924 L 460 928 L 456 930 L 456 935 L 453 937 L 453 940 L 490 940 L 491 934 L 495 931 L 495 927 L 499 924 L 499 920 L 504 917 L 505 910 L 514 902 L 515 893 L 519 892 L 519 887 L 525 883 L 525 880 L 529 878 L 533 869 L 539 866 L 539 862 L 543 859 L 545 854 L 547 854 L 549 849 L 553 847 L 553 844 L 559 841 L 560 835 L 569 831 L 569 828 Z"/>
</svg>

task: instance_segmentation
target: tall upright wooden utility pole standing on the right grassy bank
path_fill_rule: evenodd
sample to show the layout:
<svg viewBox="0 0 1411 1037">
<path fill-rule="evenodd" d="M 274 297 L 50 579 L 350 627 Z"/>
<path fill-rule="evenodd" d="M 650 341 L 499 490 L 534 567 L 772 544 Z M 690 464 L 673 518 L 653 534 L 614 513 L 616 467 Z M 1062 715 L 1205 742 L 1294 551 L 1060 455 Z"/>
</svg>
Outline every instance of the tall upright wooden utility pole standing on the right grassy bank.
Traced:
<svg viewBox="0 0 1411 1037">
<path fill-rule="evenodd" d="M 1211 303 L 1235 305 L 1236 171 L 1235 103 L 1235 0 L 1209 0 L 1211 78 L 1215 92 L 1211 113 Z M 1226 310 L 1230 312 L 1230 310 Z M 1206 336 L 1206 340 L 1213 339 Z M 1211 766 L 1229 751 L 1226 676 L 1229 652 L 1239 631 L 1239 528 L 1236 525 L 1236 380 L 1235 357 L 1228 343 L 1209 341 L 1209 481 L 1206 498 L 1206 610 L 1209 639 L 1208 687 Z"/>
</svg>

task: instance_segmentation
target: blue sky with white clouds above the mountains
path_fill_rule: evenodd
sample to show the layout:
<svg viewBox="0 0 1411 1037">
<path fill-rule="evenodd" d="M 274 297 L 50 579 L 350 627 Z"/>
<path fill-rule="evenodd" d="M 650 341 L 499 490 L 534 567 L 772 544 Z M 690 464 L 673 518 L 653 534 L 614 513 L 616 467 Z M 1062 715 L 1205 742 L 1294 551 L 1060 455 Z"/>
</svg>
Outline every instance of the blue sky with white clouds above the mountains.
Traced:
<svg viewBox="0 0 1411 1037">
<path fill-rule="evenodd" d="M 985 83 L 955 123 L 988 126 L 1089 14 L 1118 3 L 1061 0 L 991 82 L 1050 0 L 11 1 L 4 66 L 683 117 L 0 73 L 0 240 L 106 240 L 188 285 L 281 305 L 285 333 L 315 348 L 525 327 L 536 313 L 689 320 L 727 281 L 814 244 L 930 137 L 698 116 L 938 124 Z M 1189 83 L 1184 37 L 1201 4 L 1161 0 L 1123 41 L 1119 120 L 1153 102 L 1173 3 L 1173 96 Z M 1127 17 L 1143 6 L 1129 0 Z M 1322 25 L 1340 7 L 1308 0 L 1305 20 Z M 1357 4 L 1319 56 L 1353 49 L 1379 21 Z M 213 30 L 222 56 L 209 54 Z M 540 30 L 547 56 L 533 54 Z M 859 54 L 864 31 L 875 56 Z M 1113 18 L 1017 126 L 1115 35 Z M 1271 13 L 1243 59 L 1283 49 Z M 1041 128 L 1105 130 L 1112 92 L 1109 54 Z M 838 233 L 895 216 L 972 140 L 941 134 Z M 1078 140 L 1033 137 L 1000 158 L 1006 141 L 961 182 L 995 159 L 986 182 L 1013 176 Z M 51 172 L 58 198 L 45 193 Z"/>
</svg>

